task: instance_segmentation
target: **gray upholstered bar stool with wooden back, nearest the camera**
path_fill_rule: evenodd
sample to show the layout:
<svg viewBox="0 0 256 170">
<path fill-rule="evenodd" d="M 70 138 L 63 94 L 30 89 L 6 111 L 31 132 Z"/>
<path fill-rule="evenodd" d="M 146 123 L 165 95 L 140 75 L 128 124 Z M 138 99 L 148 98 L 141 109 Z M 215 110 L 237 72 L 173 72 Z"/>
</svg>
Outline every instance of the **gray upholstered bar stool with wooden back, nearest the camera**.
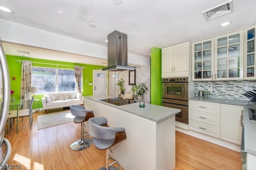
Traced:
<svg viewBox="0 0 256 170">
<path fill-rule="evenodd" d="M 94 137 L 94 146 L 97 149 L 105 150 L 106 154 L 105 166 L 99 170 L 118 170 L 118 168 L 112 166 L 114 163 L 117 163 L 119 170 L 121 170 L 119 162 L 112 156 L 109 156 L 108 149 L 126 139 L 125 129 L 123 127 L 108 127 L 107 123 L 106 117 L 92 117 L 89 119 L 90 132 Z M 114 162 L 109 164 L 109 158 L 112 158 Z"/>
</svg>

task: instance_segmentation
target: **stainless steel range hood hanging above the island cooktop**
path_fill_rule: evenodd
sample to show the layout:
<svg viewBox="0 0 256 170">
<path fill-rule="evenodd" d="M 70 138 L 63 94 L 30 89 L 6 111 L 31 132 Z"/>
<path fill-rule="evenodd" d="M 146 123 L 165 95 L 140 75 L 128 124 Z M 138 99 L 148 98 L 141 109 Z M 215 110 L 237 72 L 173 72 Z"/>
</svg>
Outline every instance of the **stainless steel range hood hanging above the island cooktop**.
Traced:
<svg viewBox="0 0 256 170">
<path fill-rule="evenodd" d="M 135 70 L 128 66 L 127 34 L 113 31 L 108 35 L 108 67 L 102 71 Z"/>
</svg>

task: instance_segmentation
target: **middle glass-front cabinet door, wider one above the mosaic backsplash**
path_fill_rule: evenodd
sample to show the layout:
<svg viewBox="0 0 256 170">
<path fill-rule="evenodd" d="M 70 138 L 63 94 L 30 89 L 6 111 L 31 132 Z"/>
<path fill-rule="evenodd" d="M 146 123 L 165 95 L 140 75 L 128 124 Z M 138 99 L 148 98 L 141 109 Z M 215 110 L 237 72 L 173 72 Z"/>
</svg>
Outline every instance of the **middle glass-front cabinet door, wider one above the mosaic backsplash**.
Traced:
<svg viewBox="0 0 256 170">
<path fill-rule="evenodd" d="M 243 78 L 243 31 L 214 38 L 213 80 L 239 80 Z"/>
</svg>

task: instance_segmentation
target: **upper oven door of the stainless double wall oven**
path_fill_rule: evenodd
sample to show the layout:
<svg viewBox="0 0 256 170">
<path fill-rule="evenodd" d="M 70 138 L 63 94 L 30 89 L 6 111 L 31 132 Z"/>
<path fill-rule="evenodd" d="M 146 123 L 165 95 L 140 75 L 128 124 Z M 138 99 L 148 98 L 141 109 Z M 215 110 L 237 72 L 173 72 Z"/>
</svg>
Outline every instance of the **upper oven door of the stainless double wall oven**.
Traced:
<svg viewBox="0 0 256 170">
<path fill-rule="evenodd" d="M 162 98 L 188 100 L 188 83 L 162 83 Z"/>
</svg>

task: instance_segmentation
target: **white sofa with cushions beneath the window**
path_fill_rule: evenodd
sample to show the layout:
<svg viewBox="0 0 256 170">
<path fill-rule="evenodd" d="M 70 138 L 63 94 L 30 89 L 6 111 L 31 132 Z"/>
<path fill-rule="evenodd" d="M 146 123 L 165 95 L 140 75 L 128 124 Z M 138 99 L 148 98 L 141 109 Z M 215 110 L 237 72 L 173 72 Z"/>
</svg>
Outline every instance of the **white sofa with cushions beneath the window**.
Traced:
<svg viewBox="0 0 256 170">
<path fill-rule="evenodd" d="M 84 104 L 84 98 L 78 92 L 46 93 L 42 98 L 42 105 L 46 113 L 49 109 L 80 104 Z"/>
</svg>

